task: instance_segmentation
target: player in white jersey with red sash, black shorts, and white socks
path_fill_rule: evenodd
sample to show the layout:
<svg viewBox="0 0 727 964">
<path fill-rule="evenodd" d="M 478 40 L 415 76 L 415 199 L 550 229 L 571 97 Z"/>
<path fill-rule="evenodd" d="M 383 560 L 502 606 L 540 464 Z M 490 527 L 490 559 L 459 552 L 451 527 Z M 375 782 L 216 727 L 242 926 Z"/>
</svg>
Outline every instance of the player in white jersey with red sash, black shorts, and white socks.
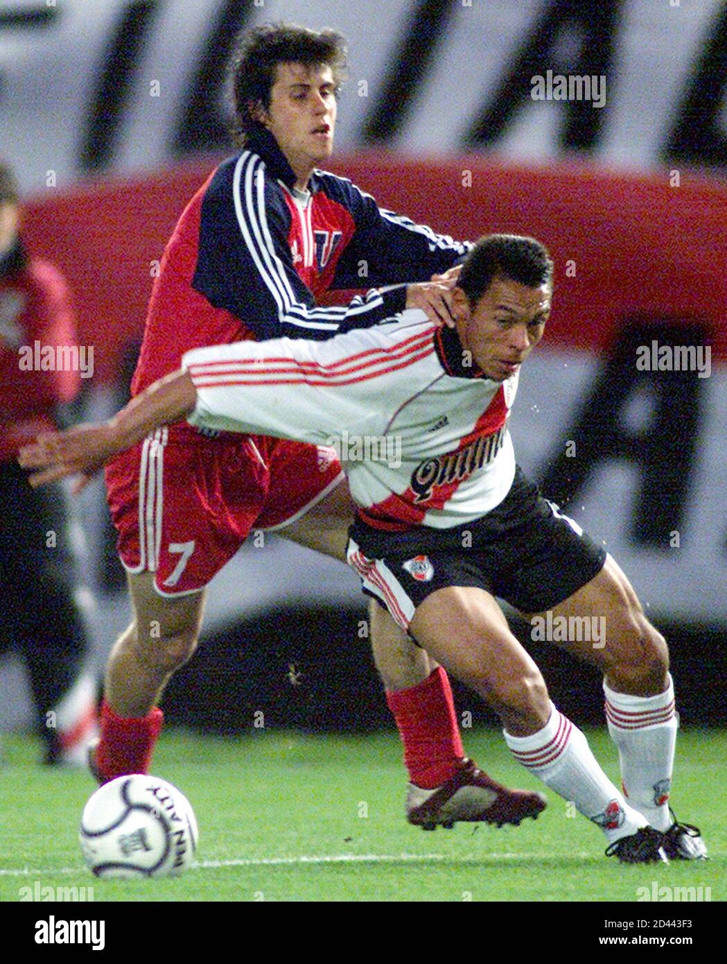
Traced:
<svg viewBox="0 0 727 964">
<path fill-rule="evenodd" d="M 325 342 L 196 349 L 110 422 L 40 440 L 23 464 L 40 469 L 37 483 L 88 473 L 182 415 L 300 442 L 394 440 L 386 458 L 369 446 L 344 463 L 358 506 L 348 555 L 364 591 L 497 711 L 515 759 L 601 827 L 607 854 L 703 859 L 699 830 L 668 806 L 677 721 L 666 644 L 613 559 L 515 463 L 507 418 L 550 314 L 552 271 L 532 238 L 491 235 L 457 281 L 455 330 L 407 310 Z M 559 645 L 604 674 L 623 793 L 551 702 L 495 597 L 526 618 L 605 622 L 605 645 L 577 635 Z M 414 792 L 426 806 L 427 791 Z"/>
</svg>

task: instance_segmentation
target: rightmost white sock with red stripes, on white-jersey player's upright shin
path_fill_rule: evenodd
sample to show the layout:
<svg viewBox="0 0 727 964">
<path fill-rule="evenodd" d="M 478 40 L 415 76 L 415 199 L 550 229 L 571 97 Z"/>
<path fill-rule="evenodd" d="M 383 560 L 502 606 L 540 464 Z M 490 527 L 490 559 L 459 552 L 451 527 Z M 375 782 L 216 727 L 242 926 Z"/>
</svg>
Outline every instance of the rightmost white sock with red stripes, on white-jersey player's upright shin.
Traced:
<svg viewBox="0 0 727 964">
<path fill-rule="evenodd" d="M 657 830 L 668 830 L 677 717 L 674 684 L 656 696 L 616 693 L 604 683 L 606 717 L 621 761 L 621 786 L 629 803 Z"/>
</svg>

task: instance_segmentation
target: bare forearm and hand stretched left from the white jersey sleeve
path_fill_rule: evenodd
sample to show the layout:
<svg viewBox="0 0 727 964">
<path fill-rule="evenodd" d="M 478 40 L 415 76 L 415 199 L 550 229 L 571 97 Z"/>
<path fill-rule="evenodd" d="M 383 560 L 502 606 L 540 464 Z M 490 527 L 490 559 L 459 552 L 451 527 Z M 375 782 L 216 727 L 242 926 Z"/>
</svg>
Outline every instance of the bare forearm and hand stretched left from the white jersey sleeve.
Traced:
<svg viewBox="0 0 727 964">
<path fill-rule="evenodd" d="M 18 462 L 24 469 L 37 469 L 29 478 L 34 489 L 80 473 L 82 478 L 73 487 L 76 495 L 114 455 L 141 442 L 161 425 L 189 415 L 195 403 L 192 379 L 186 371 L 175 371 L 149 386 L 105 422 L 39 435 L 35 442 L 20 449 Z"/>
</svg>

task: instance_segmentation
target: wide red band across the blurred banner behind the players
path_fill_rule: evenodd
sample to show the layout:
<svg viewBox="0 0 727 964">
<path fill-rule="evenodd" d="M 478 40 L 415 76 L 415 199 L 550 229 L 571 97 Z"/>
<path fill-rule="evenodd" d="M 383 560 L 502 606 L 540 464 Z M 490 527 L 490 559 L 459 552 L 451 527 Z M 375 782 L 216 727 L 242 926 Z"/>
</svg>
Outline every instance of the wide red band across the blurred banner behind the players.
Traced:
<svg viewBox="0 0 727 964">
<path fill-rule="evenodd" d="M 155 263 L 217 159 L 163 174 L 48 189 L 29 203 L 29 247 L 65 272 L 97 381 L 143 331 Z M 591 165 L 512 167 L 480 157 L 413 161 L 385 152 L 331 165 L 380 206 L 453 234 L 532 234 L 556 259 L 548 344 L 599 353 L 631 315 L 698 320 L 727 357 L 727 183 L 688 172 L 614 174 Z"/>
</svg>

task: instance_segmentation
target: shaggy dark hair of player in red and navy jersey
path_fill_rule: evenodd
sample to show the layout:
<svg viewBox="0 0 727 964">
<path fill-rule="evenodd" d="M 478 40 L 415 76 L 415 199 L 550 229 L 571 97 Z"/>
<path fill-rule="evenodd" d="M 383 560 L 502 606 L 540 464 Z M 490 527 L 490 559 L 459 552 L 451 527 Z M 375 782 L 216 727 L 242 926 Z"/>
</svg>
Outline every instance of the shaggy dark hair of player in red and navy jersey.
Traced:
<svg viewBox="0 0 727 964">
<path fill-rule="evenodd" d="M 265 23 L 244 31 L 235 43 L 228 69 L 234 111 L 230 132 L 239 145 L 262 126 L 252 110 L 268 110 L 278 64 L 331 68 L 336 95 L 346 76 L 346 40 L 333 30 L 308 30 L 295 23 Z"/>
</svg>

